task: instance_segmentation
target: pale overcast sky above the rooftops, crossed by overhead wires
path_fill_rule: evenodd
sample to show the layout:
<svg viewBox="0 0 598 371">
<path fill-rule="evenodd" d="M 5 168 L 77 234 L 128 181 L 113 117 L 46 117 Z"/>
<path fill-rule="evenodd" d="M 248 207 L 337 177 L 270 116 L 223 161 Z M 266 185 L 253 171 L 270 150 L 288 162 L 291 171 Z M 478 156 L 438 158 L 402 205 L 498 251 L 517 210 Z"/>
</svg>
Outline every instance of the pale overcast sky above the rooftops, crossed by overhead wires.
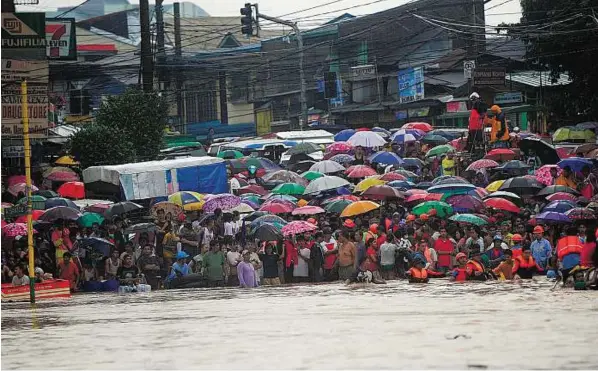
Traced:
<svg viewBox="0 0 598 371">
<path fill-rule="evenodd" d="M 138 3 L 138 0 L 129 0 L 131 3 Z M 243 6 L 246 0 L 187 0 L 203 8 L 212 16 L 237 16 L 239 8 Z M 255 1 L 255 0 L 254 0 Z M 254 2 L 252 1 L 252 2 Z M 315 26 L 325 22 L 327 19 L 334 18 L 345 12 L 353 15 L 371 14 L 381 10 L 394 8 L 403 5 L 410 0 L 257 0 L 260 12 L 271 16 L 283 16 L 293 13 L 285 18 L 301 18 L 303 26 Z M 150 0 L 154 2 L 154 0 Z M 170 4 L 173 0 L 165 0 Z M 373 3 L 374 4 L 370 4 Z M 19 11 L 44 11 L 55 10 L 56 7 L 76 6 L 81 4 L 81 0 L 39 0 L 35 6 L 19 7 Z M 320 6 L 322 4 L 329 4 Z M 364 5 L 369 4 L 369 5 Z M 317 7 L 312 10 L 306 10 Z M 324 14 L 325 13 L 325 14 Z M 492 0 L 486 4 L 486 23 L 488 25 L 497 25 L 502 22 L 517 22 L 521 17 L 521 7 L 519 0 Z M 305 23 L 307 21 L 307 23 Z"/>
</svg>

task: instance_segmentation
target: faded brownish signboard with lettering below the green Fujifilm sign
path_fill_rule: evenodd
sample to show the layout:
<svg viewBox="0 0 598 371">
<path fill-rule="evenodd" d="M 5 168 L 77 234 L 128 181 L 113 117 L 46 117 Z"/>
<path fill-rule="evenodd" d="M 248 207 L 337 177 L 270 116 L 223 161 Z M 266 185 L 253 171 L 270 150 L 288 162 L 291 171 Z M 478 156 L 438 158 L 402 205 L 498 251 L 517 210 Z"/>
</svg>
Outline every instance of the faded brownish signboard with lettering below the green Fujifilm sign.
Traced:
<svg viewBox="0 0 598 371">
<path fill-rule="evenodd" d="M 2 60 L 2 136 L 23 134 L 21 81 L 27 80 L 29 133 L 33 138 L 48 129 L 48 61 Z"/>
</svg>

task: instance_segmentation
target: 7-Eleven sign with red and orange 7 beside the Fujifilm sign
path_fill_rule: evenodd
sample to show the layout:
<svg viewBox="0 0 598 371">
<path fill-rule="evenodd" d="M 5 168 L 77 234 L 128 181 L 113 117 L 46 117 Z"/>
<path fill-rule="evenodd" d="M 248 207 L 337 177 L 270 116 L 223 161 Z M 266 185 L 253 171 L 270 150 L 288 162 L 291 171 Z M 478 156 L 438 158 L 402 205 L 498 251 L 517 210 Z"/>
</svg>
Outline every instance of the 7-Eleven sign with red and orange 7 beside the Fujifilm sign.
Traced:
<svg viewBox="0 0 598 371">
<path fill-rule="evenodd" d="M 46 18 L 48 59 L 76 60 L 75 18 Z"/>
</svg>

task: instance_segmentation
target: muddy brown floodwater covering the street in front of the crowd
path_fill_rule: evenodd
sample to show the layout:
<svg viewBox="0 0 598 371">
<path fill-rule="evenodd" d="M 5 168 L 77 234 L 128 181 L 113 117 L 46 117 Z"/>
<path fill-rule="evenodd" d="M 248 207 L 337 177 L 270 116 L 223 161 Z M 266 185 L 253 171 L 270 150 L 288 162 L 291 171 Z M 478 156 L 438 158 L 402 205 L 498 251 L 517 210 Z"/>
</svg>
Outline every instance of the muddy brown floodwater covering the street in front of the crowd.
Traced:
<svg viewBox="0 0 598 371">
<path fill-rule="evenodd" d="M 598 294 L 341 284 L 2 304 L 3 369 L 598 368 Z"/>
</svg>

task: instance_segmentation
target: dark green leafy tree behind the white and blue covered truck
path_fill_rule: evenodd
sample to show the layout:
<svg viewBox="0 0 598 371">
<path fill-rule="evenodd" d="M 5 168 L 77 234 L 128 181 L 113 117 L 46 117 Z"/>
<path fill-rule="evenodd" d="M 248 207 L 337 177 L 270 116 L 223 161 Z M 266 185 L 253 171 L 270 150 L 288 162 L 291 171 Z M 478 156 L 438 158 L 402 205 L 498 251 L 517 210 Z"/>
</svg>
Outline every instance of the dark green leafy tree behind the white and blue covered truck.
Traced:
<svg viewBox="0 0 598 371">
<path fill-rule="evenodd" d="M 160 153 L 168 104 L 157 93 L 129 89 L 102 104 L 95 123 L 71 139 L 82 167 L 153 160 Z"/>
</svg>

